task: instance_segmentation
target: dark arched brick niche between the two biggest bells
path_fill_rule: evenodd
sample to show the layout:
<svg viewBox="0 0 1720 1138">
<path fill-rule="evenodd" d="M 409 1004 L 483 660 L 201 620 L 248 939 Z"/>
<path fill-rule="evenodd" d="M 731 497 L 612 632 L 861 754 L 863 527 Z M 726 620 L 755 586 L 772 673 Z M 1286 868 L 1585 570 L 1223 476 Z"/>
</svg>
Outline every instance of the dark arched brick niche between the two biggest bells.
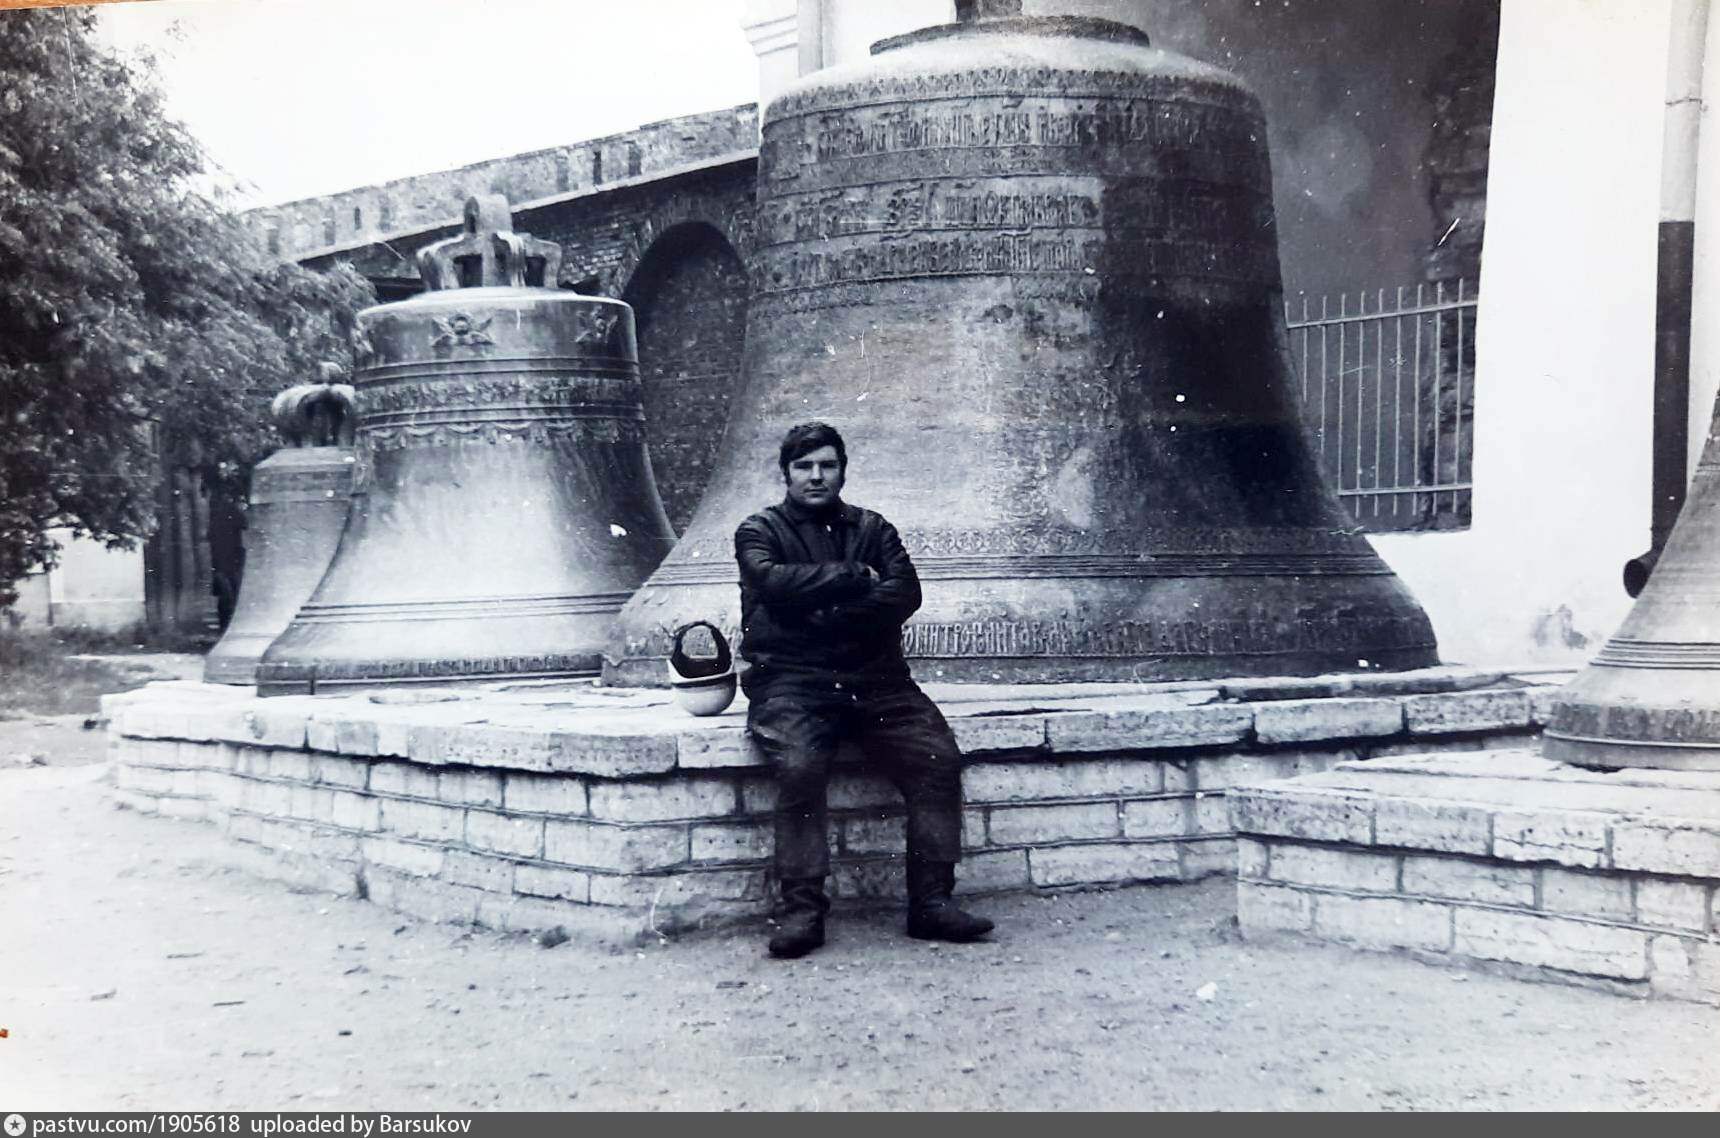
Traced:
<svg viewBox="0 0 1720 1138">
<path fill-rule="evenodd" d="M 652 474 L 679 533 L 705 492 L 740 383 L 746 268 L 716 225 L 688 220 L 662 230 L 626 280 Z"/>
</svg>

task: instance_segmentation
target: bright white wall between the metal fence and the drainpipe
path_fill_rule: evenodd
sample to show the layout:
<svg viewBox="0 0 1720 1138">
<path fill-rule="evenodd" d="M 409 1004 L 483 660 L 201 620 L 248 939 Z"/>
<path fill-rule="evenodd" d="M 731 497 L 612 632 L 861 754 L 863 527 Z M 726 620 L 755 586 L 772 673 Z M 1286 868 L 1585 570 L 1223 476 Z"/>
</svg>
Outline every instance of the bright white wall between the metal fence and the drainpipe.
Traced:
<svg viewBox="0 0 1720 1138">
<path fill-rule="evenodd" d="M 1619 572 L 1648 545 L 1668 21 L 1670 0 L 1503 3 L 1474 523 L 1374 538 L 1448 662 L 1581 662 L 1631 607 Z"/>
</svg>

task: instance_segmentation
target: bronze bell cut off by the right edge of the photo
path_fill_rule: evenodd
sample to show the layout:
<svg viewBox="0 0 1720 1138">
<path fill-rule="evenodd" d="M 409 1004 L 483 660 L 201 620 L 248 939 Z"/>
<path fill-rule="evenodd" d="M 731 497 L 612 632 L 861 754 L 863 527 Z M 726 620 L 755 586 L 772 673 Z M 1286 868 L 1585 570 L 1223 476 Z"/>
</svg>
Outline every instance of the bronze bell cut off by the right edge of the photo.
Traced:
<svg viewBox="0 0 1720 1138">
<path fill-rule="evenodd" d="M 1582 767 L 1720 770 L 1720 401 L 1653 576 L 1558 693 L 1541 753 Z"/>
</svg>

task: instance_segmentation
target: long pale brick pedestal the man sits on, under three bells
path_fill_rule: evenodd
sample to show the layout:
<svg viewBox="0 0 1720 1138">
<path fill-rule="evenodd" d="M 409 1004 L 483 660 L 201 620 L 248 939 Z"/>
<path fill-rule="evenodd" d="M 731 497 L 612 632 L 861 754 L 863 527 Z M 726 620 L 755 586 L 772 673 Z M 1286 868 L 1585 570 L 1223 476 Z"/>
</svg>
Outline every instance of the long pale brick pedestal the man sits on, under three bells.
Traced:
<svg viewBox="0 0 1720 1138">
<path fill-rule="evenodd" d="M 963 751 L 967 892 L 1232 873 L 1238 780 L 1538 731 L 1567 674 L 1464 669 L 1183 684 L 937 686 Z M 280 696 L 153 684 L 110 696 L 115 798 L 201 818 L 234 860 L 435 920 L 604 935 L 771 908 L 774 782 L 743 707 L 513 684 Z M 901 803 L 831 786 L 832 887 L 901 896 Z"/>
</svg>

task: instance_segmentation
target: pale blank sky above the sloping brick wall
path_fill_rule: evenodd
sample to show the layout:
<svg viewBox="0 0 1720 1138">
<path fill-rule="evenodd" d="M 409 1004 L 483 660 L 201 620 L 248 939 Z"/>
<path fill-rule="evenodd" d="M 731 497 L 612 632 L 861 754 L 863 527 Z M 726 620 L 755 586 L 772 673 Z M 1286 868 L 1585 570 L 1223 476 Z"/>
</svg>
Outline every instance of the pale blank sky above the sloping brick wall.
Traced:
<svg viewBox="0 0 1720 1138">
<path fill-rule="evenodd" d="M 151 0 L 101 9 L 260 206 L 750 103 L 743 0 Z"/>
</svg>

